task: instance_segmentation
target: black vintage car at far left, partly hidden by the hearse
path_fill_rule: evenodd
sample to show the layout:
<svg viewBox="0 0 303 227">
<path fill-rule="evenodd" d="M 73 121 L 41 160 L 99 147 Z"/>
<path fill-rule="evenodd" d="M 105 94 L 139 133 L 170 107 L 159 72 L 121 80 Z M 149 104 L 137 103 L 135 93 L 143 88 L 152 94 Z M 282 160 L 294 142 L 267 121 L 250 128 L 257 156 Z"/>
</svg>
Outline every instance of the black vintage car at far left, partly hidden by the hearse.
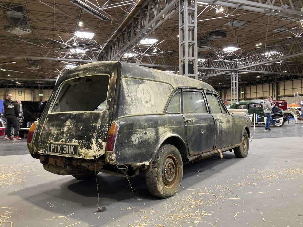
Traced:
<svg viewBox="0 0 303 227">
<path fill-rule="evenodd" d="M 41 117 L 47 101 L 21 101 L 22 115 L 19 116 L 19 137 L 24 138 L 32 123 Z"/>
</svg>

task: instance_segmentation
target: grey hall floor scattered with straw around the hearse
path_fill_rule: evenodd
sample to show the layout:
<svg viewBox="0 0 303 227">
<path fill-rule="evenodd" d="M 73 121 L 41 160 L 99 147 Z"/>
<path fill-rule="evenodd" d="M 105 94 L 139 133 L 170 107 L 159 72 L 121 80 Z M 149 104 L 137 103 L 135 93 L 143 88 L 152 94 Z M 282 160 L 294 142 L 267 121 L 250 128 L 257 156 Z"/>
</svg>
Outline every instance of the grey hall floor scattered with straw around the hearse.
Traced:
<svg viewBox="0 0 303 227">
<path fill-rule="evenodd" d="M 246 158 L 227 152 L 185 165 L 168 199 L 151 196 L 141 175 L 130 179 L 133 197 L 126 178 L 99 173 L 97 190 L 48 173 L 26 140 L 0 138 L 0 226 L 303 226 L 303 122 L 251 133 Z"/>
</svg>

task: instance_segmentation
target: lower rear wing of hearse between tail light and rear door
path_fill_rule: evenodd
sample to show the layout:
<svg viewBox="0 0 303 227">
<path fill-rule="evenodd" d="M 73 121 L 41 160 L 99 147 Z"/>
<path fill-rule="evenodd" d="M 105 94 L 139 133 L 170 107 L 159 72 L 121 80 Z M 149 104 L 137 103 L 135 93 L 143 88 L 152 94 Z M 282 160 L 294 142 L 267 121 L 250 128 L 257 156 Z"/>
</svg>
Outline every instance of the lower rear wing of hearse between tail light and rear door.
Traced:
<svg viewBox="0 0 303 227">
<path fill-rule="evenodd" d="M 181 114 L 122 117 L 115 146 L 117 164 L 148 165 L 161 144 L 171 136 L 186 145 Z"/>
</svg>

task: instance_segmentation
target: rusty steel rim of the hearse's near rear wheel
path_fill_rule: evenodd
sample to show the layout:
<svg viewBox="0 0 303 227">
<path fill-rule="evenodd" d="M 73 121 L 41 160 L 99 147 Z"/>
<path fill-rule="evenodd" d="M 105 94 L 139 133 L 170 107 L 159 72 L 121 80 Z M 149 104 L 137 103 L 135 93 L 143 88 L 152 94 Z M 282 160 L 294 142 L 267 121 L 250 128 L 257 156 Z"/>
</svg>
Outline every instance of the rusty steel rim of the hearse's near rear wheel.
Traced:
<svg viewBox="0 0 303 227">
<path fill-rule="evenodd" d="M 162 166 L 162 180 L 166 188 L 172 188 L 177 180 L 178 167 L 175 157 L 169 156 L 165 159 Z"/>
</svg>

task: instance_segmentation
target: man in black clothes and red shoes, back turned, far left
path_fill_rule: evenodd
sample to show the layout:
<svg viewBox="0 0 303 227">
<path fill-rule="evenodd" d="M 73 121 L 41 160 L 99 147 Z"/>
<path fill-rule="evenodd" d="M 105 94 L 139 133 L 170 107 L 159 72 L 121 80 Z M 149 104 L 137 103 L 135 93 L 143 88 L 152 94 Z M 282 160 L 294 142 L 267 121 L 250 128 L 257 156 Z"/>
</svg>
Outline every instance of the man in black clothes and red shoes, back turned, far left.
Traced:
<svg viewBox="0 0 303 227">
<path fill-rule="evenodd" d="M 12 101 L 10 104 L 8 104 L 6 111 L 5 111 L 5 117 L 6 117 L 6 123 L 7 127 L 10 129 L 13 125 L 15 128 L 14 131 L 14 138 L 11 137 L 10 133 L 6 134 L 7 138 L 6 140 L 20 140 L 21 137 L 18 137 L 20 125 L 19 125 L 19 114 L 20 114 L 20 100 Z"/>
</svg>

